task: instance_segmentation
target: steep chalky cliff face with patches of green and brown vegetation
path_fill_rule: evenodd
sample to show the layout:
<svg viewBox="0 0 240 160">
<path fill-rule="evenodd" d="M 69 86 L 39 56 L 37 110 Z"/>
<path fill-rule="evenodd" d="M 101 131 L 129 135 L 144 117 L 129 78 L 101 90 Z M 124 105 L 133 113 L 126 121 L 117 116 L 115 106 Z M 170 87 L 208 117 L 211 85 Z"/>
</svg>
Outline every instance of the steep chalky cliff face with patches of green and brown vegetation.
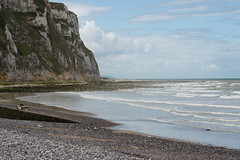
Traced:
<svg viewBox="0 0 240 160">
<path fill-rule="evenodd" d="M 48 0 L 0 0 L 0 81 L 99 79 L 77 16 Z"/>
</svg>

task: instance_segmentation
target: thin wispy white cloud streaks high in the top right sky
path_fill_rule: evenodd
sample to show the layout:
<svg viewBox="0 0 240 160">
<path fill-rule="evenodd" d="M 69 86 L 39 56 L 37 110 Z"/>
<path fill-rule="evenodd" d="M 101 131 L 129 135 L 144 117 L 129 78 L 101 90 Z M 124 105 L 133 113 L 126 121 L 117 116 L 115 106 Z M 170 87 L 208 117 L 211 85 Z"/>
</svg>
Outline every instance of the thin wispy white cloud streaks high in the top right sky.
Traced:
<svg viewBox="0 0 240 160">
<path fill-rule="evenodd" d="M 237 2 L 232 0 L 233 2 Z M 211 3 L 215 2 L 215 3 Z M 177 18 L 201 18 L 201 17 L 221 17 L 232 16 L 238 19 L 240 9 L 233 3 L 229 4 L 229 1 L 221 1 L 221 5 L 216 4 L 216 0 L 180 0 L 170 1 L 166 3 L 155 4 L 155 12 L 148 11 L 149 7 L 146 7 L 146 13 L 141 13 L 135 17 L 129 19 L 132 23 L 151 22 L 151 21 L 163 21 Z M 224 8 L 222 7 L 224 6 Z M 150 7 L 152 9 L 152 7 Z M 234 20 L 234 18 L 233 18 Z"/>
</svg>

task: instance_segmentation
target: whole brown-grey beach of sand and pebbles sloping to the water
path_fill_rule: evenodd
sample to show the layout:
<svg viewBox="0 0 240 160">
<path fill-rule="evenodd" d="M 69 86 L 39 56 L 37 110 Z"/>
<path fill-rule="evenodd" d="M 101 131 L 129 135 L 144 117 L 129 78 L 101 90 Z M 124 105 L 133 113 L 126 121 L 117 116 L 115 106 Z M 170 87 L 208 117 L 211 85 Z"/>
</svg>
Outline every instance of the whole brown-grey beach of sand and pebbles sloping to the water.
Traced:
<svg viewBox="0 0 240 160">
<path fill-rule="evenodd" d="M 240 150 L 113 130 L 117 124 L 91 113 L 14 99 L 29 94 L 0 93 L 0 159 L 240 158 Z M 17 118 L 18 112 L 26 116 Z M 35 115 L 40 119 L 31 119 Z"/>
</svg>

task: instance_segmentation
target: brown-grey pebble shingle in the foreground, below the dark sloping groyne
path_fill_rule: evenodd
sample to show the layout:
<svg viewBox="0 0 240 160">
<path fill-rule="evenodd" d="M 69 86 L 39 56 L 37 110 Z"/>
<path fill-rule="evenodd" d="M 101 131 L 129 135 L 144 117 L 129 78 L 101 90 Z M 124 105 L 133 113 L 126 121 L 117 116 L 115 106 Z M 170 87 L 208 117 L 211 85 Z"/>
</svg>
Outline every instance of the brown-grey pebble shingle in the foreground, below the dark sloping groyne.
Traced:
<svg viewBox="0 0 240 160">
<path fill-rule="evenodd" d="M 239 160 L 240 157 L 240 150 L 116 132 L 92 125 L 88 120 L 84 122 L 56 123 L 0 118 L 0 160 Z"/>
</svg>

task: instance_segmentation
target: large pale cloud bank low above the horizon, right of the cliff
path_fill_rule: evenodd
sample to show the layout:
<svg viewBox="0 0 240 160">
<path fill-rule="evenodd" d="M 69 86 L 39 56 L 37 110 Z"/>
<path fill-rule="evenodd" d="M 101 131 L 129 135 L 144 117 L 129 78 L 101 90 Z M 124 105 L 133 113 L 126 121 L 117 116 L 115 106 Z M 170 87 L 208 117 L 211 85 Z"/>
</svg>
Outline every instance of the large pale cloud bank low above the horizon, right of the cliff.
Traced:
<svg viewBox="0 0 240 160">
<path fill-rule="evenodd" d="M 95 21 L 80 28 L 85 45 L 97 59 L 102 75 L 120 78 L 226 76 L 239 66 L 239 43 L 195 38 L 189 35 L 121 35 L 104 32 Z M 231 66 L 229 65 L 231 63 Z M 235 66 L 235 67 L 234 67 Z M 228 73 L 229 72 L 229 73 Z M 239 73 L 236 69 L 234 73 Z"/>
</svg>

